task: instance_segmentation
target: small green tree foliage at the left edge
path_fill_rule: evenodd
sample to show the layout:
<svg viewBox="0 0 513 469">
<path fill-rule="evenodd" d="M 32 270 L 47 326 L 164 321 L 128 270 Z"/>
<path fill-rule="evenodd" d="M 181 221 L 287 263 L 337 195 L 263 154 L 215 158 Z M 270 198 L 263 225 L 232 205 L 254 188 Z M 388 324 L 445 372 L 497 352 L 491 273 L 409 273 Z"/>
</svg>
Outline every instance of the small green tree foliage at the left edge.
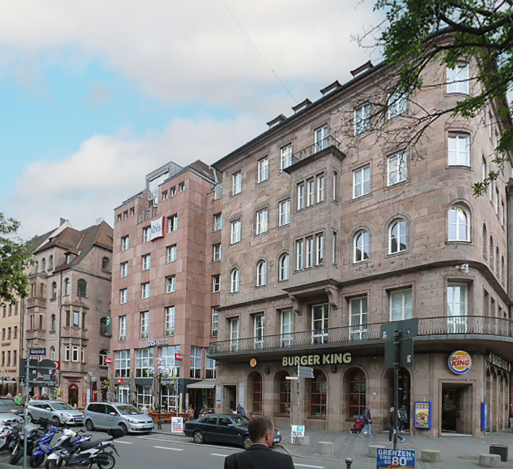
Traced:
<svg viewBox="0 0 513 469">
<path fill-rule="evenodd" d="M 0 213 L 0 302 L 14 303 L 17 296 L 27 296 L 25 269 L 31 265 L 32 255 L 16 236 L 19 226 L 19 221 Z"/>
</svg>

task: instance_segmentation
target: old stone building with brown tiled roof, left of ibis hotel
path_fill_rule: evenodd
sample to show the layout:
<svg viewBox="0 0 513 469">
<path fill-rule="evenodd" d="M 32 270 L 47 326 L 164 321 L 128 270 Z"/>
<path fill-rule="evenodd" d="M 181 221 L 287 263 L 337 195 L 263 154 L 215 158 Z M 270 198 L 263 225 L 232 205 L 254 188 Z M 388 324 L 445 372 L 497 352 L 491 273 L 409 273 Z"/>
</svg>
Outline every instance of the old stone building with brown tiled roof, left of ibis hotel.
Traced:
<svg viewBox="0 0 513 469">
<path fill-rule="evenodd" d="M 67 224 L 66 224 L 67 223 Z M 112 228 L 61 227 L 32 243 L 34 265 L 24 320 L 26 347 L 57 362 L 57 388 L 36 388 L 70 404 L 106 398 L 110 337 Z"/>
</svg>

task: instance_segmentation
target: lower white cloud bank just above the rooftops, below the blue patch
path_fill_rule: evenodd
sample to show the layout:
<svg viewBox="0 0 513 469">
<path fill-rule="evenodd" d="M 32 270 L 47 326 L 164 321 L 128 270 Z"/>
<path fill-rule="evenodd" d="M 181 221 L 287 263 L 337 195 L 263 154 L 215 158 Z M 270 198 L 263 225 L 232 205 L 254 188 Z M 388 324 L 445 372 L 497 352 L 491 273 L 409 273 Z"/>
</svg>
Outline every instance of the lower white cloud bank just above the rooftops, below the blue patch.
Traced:
<svg viewBox="0 0 513 469">
<path fill-rule="evenodd" d="M 261 123 L 176 119 L 162 134 L 141 138 L 121 130 L 94 135 L 60 161 L 35 161 L 16 181 L 11 196 L 0 201 L 22 222 L 19 234 L 30 238 L 67 218 L 83 229 L 97 217 L 113 226 L 113 210 L 144 189 L 144 176 L 168 161 L 185 166 L 196 159 L 212 163 L 250 139 Z"/>
</svg>

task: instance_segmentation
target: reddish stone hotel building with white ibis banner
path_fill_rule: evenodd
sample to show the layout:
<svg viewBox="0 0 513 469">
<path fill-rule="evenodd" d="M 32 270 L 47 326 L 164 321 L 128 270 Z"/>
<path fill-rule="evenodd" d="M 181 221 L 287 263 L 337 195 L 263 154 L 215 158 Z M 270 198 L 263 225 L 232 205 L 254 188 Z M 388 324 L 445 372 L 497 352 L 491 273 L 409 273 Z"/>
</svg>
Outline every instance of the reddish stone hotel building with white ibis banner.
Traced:
<svg viewBox="0 0 513 469">
<path fill-rule="evenodd" d="M 218 183 L 201 161 L 169 162 L 115 209 L 111 350 L 120 401 L 157 404 L 160 374 L 162 408 L 213 406 L 215 362 L 205 350 L 219 305 Z"/>
</svg>

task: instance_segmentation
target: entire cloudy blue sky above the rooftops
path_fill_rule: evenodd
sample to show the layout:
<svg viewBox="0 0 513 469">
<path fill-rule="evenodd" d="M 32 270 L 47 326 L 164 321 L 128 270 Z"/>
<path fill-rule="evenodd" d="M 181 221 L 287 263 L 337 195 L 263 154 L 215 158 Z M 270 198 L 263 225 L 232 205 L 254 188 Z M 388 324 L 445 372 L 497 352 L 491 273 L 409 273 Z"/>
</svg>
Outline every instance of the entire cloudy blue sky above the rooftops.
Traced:
<svg viewBox="0 0 513 469">
<path fill-rule="evenodd" d="M 224 0 L 298 102 L 369 59 L 373 2 Z M 85 228 L 173 160 L 207 163 L 295 102 L 220 0 L 0 0 L 0 207 Z M 370 54 L 372 58 L 372 55 Z"/>
</svg>

